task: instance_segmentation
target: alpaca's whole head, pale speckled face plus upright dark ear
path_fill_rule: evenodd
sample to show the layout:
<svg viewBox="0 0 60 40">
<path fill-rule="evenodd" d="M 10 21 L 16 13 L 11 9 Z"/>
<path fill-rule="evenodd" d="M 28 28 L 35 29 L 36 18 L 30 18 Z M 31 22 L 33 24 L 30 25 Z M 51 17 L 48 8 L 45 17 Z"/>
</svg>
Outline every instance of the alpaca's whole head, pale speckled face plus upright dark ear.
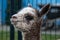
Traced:
<svg viewBox="0 0 60 40">
<path fill-rule="evenodd" d="M 23 32 L 28 32 L 36 22 L 41 23 L 41 17 L 50 9 L 50 4 L 45 5 L 41 8 L 40 11 L 32 8 L 32 7 L 25 7 L 20 10 L 17 14 L 12 15 L 11 23 L 14 27 L 18 30 Z"/>
</svg>

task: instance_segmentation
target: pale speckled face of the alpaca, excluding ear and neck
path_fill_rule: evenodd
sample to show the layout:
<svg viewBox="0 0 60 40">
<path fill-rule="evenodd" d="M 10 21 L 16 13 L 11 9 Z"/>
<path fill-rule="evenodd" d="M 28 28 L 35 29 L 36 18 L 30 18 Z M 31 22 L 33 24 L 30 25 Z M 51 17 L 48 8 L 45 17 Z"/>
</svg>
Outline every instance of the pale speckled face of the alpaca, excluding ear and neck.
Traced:
<svg viewBox="0 0 60 40">
<path fill-rule="evenodd" d="M 11 23 L 21 31 L 27 31 L 37 20 L 36 10 L 31 7 L 23 8 L 11 18 Z"/>
</svg>

